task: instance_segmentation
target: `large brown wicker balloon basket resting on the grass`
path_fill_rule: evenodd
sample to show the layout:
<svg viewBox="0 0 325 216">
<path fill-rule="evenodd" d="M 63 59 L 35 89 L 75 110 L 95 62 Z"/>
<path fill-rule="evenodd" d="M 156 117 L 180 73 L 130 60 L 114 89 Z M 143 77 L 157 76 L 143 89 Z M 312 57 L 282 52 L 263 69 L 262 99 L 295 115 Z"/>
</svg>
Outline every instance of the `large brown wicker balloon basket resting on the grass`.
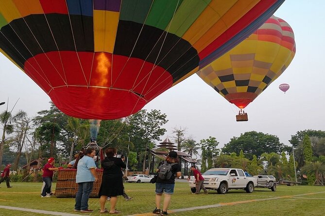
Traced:
<svg viewBox="0 0 325 216">
<path fill-rule="evenodd" d="M 94 183 L 90 197 L 98 197 L 99 189 L 102 184 L 103 170 L 96 170 L 98 181 Z M 76 197 L 78 184 L 76 183 L 77 170 L 62 169 L 58 171 L 57 183 L 55 187 L 56 197 Z"/>
</svg>

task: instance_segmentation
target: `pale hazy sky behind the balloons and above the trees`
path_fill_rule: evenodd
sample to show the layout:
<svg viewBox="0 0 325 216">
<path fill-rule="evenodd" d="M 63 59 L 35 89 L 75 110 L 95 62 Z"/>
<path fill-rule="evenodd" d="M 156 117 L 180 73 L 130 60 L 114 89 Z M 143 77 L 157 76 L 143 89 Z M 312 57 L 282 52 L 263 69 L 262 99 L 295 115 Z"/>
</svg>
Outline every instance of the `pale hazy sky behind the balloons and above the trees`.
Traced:
<svg viewBox="0 0 325 216">
<path fill-rule="evenodd" d="M 297 131 L 325 130 L 324 8 L 323 0 L 286 0 L 275 12 L 293 29 L 296 54 L 287 70 L 245 108 L 248 122 L 236 122 L 239 108 L 194 74 L 144 107 L 166 113 L 169 122 L 163 125 L 167 132 L 161 139 L 171 139 L 175 127 L 186 127 L 186 136 L 197 142 L 215 137 L 219 148 L 248 131 L 275 135 L 291 145 L 291 135 Z M 287 93 L 278 89 L 281 83 L 290 84 Z M 0 112 L 17 102 L 13 113 L 23 109 L 30 117 L 50 108 L 50 97 L 0 53 L 2 101 L 6 104 Z"/>
</svg>

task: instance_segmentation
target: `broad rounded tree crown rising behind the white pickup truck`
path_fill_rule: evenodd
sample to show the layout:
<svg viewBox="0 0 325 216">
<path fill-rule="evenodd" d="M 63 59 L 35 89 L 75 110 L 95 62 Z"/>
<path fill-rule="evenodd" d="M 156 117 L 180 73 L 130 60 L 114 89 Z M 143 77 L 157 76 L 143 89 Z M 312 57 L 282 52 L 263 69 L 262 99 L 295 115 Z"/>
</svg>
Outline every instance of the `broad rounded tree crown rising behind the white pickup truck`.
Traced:
<svg viewBox="0 0 325 216">
<path fill-rule="evenodd" d="M 283 143 L 280 143 L 279 138 L 274 135 L 251 131 L 241 134 L 238 138 L 232 138 L 230 142 L 224 145 L 222 153 L 230 154 L 235 152 L 239 154 L 240 150 L 243 151 L 246 158 L 251 160 L 253 154 L 255 154 L 257 158 L 260 158 L 263 153 L 269 154 L 275 152 L 280 154 L 283 150 L 286 150 L 286 147 Z"/>
</svg>

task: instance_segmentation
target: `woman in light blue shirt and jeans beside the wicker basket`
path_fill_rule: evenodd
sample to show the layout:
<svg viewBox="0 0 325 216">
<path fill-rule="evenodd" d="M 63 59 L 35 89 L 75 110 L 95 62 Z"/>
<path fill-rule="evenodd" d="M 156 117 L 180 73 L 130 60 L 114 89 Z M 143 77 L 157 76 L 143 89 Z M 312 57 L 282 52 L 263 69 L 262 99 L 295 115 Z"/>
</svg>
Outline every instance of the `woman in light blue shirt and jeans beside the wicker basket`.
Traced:
<svg viewBox="0 0 325 216">
<path fill-rule="evenodd" d="M 78 192 L 76 194 L 75 212 L 93 212 L 88 209 L 88 200 L 92 191 L 94 182 L 97 182 L 96 165 L 93 157 L 96 151 L 92 148 L 85 150 L 85 155 L 78 161 L 76 183 L 78 183 Z"/>
</svg>

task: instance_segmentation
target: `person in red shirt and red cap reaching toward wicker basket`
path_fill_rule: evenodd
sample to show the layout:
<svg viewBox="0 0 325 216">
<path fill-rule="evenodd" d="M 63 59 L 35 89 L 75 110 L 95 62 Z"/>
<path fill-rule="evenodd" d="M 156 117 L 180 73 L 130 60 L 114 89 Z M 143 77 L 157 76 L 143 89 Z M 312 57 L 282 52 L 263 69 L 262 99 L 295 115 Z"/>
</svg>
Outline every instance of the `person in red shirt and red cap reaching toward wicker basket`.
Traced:
<svg viewBox="0 0 325 216">
<path fill-rule="evenodd" d="M 53 174 L 54 171 L 62 169 L 62 167 L 54 167 L 55 160 L 54 157 L 50 157 L 48 159 L 48 162 L 44 165 L 43 168 L 43 182 L 45 182 L 45 186 L 42 190 L 41 197 L 51 197 L 51 186 L 52 186 L 52 180 L 53 180 Z"/>
</svg>

